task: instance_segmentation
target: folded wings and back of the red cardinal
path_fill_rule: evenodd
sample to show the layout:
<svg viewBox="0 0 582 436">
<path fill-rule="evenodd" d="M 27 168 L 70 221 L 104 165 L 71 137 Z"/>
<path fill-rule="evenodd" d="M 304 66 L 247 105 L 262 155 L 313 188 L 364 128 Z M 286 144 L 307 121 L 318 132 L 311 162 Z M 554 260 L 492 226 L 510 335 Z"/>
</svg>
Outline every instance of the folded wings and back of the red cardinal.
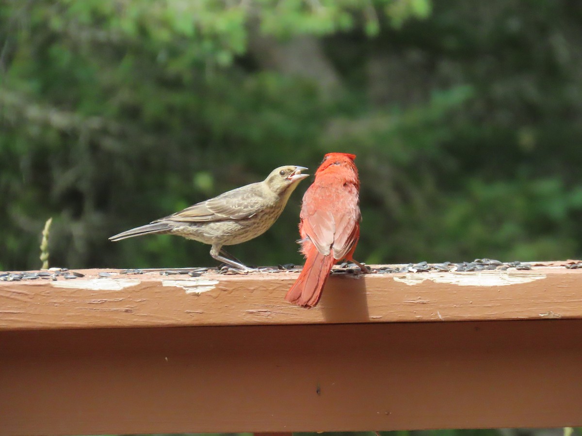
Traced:
<svg viewBox="0 0 582 436">
<path fill-rule="evenodd" d="M 340 189 L 311 185 L 303 196 L 301 237 L 309 237 L 322 255 L 328 255 L 333 247 L 333 258 L 343 259 L 358 237 L 358 198 L 353 184 Z M 327 208 L 321 207 L 322 199 L 326 199 Z"/>
</svg>

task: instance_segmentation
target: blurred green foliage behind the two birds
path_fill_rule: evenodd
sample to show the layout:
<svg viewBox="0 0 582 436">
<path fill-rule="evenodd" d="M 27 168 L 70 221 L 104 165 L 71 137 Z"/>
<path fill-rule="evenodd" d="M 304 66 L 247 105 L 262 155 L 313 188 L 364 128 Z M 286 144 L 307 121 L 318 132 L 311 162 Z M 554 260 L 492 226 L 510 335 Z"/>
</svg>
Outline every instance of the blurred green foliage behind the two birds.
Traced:
<svg viewBox="0 0 582 436">
<path fill-rule="evenodd" d="M 215 265 L 107 238 L 355 153 L 367 263 L 582 257 L 582 2 L 0 0 L 0 270 Z M 229 249 L 301 263 L 303 181 Z"/>
</svg>

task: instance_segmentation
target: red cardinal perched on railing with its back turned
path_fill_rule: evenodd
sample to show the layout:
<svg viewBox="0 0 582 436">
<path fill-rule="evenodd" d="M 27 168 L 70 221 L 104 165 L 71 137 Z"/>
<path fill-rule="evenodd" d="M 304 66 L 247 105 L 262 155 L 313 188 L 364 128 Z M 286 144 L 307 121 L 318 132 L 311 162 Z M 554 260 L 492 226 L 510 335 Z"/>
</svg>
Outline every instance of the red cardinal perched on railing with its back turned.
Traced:
<svg viewBox="0 0 582 436">
<path fill-rule="evenodd" d="M 360 180 L 356 155 L 328 153 L 315 172 L 315 181 L 303 195 L 301 252 L 306 256 L 301 274 L 285 299 L 313 308 L 320 301 L 329 271 L 339 260 L 350 260 L 360 237 Z"/>
</svg>

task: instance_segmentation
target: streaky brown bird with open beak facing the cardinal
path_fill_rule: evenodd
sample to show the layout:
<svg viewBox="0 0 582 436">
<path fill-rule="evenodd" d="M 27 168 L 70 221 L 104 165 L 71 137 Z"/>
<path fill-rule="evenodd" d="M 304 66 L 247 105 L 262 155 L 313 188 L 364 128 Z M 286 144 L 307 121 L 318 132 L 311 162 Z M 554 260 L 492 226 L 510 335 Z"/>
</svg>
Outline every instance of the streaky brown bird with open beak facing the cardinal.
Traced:
<svg viewBox="0 0 582 436">
<path fill-rule="evenodd" d="M 179 235 L 212 245 L 210 255 L 239 270 L 250 270 L 232 258 L 223 245 L 249 241 L 265 233 L 278 219 L 289 196 L 309 174 L 303 166 L 281 166 L 262 182 L 251 183 L 196 203 L 173 215 L 132 228 L 109 238 L 119 241 L 150 233 Z"/>
</svg>

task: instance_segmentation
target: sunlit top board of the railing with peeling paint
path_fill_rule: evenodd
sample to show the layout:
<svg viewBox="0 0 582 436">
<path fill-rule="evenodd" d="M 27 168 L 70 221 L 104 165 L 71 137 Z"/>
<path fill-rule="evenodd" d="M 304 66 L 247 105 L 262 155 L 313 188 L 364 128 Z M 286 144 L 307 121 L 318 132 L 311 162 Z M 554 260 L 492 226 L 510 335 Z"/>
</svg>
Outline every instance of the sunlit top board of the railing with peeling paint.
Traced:
<svg viewBox="0 0 582 436">
<path fill-rule="evenodd" d="M 582 269 L 563 266 L 335 275 L 314 309 L 283 299 L 296 271 L 118 271 L 0 281 L 0 329 L 582 318 Z"/>
</svg>

